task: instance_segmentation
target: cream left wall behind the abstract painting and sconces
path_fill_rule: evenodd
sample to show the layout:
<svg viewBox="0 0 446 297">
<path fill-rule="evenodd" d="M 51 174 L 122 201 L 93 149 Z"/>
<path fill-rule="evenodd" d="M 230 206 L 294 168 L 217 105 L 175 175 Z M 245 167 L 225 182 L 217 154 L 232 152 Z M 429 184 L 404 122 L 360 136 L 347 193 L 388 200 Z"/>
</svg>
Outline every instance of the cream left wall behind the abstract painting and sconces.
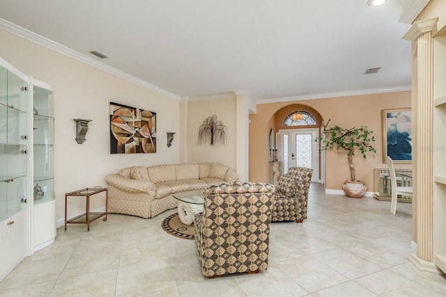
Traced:
<svg viewBox="0 0 446 297">
<path fill-rule="evenodd" d="M 176 140 L 167 147 L 167 131 L 179 131 L 179 102 L 120 79 L 0 30 L 0 56 L 26 75 L 54 88 L 56 140 L 54 174 L 56 218 L 64 216 L 65 193 L 87 186 L 107 186 L 105 176 L 121 168 L 160 163 L 178 163 Z M 109 102 L 148 109 L 157 113 L 155 154 L 110 154 Z M 74 118 L 93 120 L 86 141 L 75 141 Z M 92 209 L 104 206 L 93 199 Z M 72 199 L 69 214 L 83 212 L 84 201 Z M 59 221 L 60 223 L 60 221 Z"/>
</svg>

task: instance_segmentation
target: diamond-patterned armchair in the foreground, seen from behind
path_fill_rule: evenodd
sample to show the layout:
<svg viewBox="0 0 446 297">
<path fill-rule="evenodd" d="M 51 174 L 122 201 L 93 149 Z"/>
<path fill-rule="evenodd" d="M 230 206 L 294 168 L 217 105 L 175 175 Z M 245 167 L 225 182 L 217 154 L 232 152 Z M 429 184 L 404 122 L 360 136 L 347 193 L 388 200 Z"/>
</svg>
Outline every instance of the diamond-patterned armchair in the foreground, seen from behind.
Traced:
<svg viewBox="0 0 446 297">
<path fill-rule="evenodd" d="M 272 184 L 233 183 L 205 190 L 194 218 L 201 272 L 208 278 L 258 273 L 268 267 Z"/>
</svg>

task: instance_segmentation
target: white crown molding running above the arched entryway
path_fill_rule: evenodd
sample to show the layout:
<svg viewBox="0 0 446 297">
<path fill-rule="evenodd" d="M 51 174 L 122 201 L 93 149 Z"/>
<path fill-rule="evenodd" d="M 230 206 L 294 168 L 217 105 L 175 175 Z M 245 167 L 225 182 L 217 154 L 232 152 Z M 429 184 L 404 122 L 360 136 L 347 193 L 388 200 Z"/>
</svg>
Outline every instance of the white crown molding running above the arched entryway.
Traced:
<svg viewBox="0 0 446 297">
<path fill-rule="evenodd" d="M 301 95 L 301 96 L 280 97 L 280 98 L 271 98 L 271 99 L 260 99 L 257 101 L 257 104 L 322 99 L 322 98 L 332 98 L 332 97 L 346 97 L 346 96 L 355 96 L 355 95 L 369 95 L 369 94 L 378 94 L 378 93 L 392 93 L 392 92 L 401 92 L 401 91 L 405 91 L 405 90 L 412 90 L 412 86 L 398 86 L 398 87 L 392 87 L 392 88 L 374 88 L 374 89 L 366 89 L 366 90 L 351 90 L 351 91 L 344 91 L 344 92 L 322 93 L 322 94 L 314 94 L 314 95 Z"/>
</svg>

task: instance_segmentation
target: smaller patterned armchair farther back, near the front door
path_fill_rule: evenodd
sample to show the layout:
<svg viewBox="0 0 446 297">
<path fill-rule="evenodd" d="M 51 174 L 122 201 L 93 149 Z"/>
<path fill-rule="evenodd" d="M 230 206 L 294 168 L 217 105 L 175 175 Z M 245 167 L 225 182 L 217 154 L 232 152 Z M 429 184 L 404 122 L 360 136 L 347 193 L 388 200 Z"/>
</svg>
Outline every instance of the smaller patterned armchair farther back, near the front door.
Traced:
<svg viewBox="0 0 446 297">
<path fill-rule="evenodd" d="M 309 185 L 313 170 L 304 167 L 291 167 L 286 175 L 279 177 L 272 207 L 272 222 L 295 220 L 302 223 L 307 218 Z"/>
</svg>

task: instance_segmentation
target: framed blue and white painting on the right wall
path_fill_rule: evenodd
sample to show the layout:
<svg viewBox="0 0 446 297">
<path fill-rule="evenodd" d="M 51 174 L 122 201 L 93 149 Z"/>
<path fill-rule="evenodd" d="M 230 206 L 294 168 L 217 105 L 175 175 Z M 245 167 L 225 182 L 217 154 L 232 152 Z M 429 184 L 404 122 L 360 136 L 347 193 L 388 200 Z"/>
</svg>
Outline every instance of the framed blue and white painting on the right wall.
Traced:
<svg viewBox="0 0 446 297">
<path fill-rule="evenodd" d="M 383 110 L 383 163 L 390 156 L 394 163 L 412 162 L 412 111 Z"/>
</svg>

